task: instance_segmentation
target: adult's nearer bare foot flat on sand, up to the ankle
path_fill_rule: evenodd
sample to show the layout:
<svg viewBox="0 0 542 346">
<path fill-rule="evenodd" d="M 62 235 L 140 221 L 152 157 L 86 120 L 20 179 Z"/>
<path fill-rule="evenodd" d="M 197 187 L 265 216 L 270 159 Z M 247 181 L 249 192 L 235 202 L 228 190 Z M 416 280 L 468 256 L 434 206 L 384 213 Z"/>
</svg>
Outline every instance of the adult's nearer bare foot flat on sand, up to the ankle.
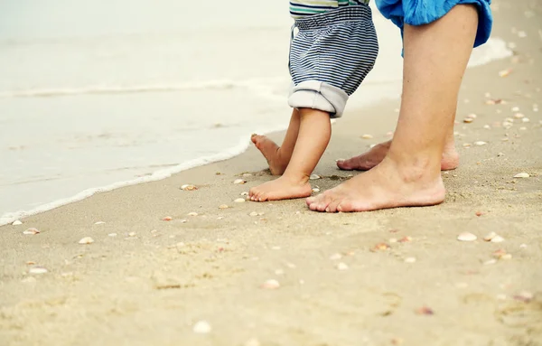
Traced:
<svg viewBox="0 0 542 346">
<path fill-rule="evenodd" d="M 444 201 L 440 174 L 424 167 L 398 167 L 385 159 L 367 173 L 332 190 L 307 199 L 311 210 L 327 212 L 369 211 L 435 205 Z"/>
</svg>

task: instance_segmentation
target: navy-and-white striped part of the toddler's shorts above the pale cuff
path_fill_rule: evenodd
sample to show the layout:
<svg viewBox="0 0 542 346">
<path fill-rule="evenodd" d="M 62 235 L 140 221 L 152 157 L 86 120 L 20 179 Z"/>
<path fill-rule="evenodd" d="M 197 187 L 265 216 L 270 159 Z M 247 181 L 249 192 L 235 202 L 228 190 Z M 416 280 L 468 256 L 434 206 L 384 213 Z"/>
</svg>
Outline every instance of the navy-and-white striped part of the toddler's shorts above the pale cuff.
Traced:
<svg viewBox="0 0 542 346">
<path fill-rule="evenodd" d="M 378 39 L 368 5 L 346 6 L 298 19 L 290 48 L 294 85 L 315 80 L 351 95 L 377 59 Z"/>
</svg>

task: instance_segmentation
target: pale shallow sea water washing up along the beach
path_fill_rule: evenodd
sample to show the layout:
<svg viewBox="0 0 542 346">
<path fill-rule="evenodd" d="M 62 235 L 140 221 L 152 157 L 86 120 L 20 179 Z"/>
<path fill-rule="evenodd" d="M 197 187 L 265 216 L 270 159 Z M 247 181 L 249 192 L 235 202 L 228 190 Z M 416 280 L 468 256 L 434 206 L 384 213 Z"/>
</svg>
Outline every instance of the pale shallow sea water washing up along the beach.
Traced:
<svg viewBox="0 0 542 346">
<path fill-rule="evenodd" d="M 0 225 L 229 158 L 251 133 L 284 129 L 287 2 L 246 7 L 0 0 Z M 373 14 L 378 61 L 350 109 L 400 93 L 399 32 Z M 471 65 L 509 54 L 492 38 Z"/>
</svg>

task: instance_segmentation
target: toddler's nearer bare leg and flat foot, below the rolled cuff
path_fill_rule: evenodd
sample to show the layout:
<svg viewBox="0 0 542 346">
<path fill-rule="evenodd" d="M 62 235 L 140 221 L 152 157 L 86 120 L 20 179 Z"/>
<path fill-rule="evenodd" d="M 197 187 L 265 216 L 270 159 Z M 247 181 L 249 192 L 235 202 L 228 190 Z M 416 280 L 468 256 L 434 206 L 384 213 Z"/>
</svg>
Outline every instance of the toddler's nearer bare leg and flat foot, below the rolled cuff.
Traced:
<svg viewBox="0 0 542 346">
<path fill-rule="evenodd" d="M 285 173 L 272 182 L 250 189 L 252 201 L 276 201 L 311 195 L 309 177 L 330 142 L 332 124 L 327 112 L 299 109 L 299 134 Z"/>
</svg>

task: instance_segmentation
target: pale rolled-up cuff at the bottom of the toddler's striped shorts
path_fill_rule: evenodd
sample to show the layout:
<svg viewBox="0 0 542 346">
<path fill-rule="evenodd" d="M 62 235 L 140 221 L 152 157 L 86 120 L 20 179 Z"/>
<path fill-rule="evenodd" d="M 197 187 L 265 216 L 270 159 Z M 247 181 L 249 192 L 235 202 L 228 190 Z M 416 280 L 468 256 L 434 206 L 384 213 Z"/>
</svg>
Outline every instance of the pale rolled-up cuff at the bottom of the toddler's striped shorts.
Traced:
<svg viewBox="0 0 542 346">
<path fill-rule="evenodd" d="M 292 84 L 288 105 L 292 108 L 313 108 L 328 112 L 330 117 L 341 117 L 348 101 L 348 94 L 330 84 L 306 80 Z"/>
</svg>

